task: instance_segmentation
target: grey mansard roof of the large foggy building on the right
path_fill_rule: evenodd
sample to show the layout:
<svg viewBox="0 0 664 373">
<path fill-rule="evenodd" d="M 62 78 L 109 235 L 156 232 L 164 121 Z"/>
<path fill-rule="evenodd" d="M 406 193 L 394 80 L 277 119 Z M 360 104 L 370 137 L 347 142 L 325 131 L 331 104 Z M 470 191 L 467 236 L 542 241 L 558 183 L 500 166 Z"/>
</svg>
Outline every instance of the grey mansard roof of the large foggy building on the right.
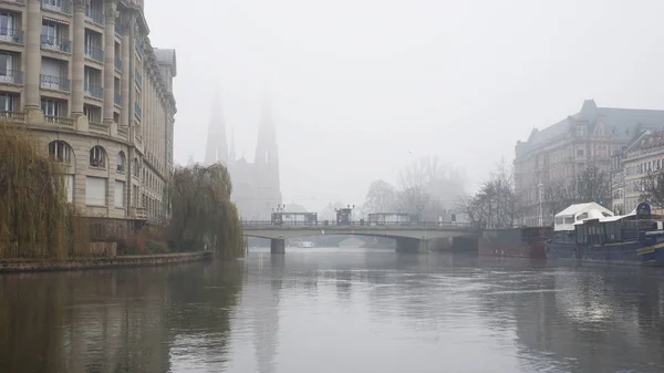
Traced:
<svg viewBox="0 0 664 373">
<path fill-rule="evenodd" d="M 587 122 L 589 125 L 588 131 L 592 133 L 599 120 L 604 123 L 606 132 L 613 138 L 621 143 L 626 143 L 641 128 L 664 127 L 664 111 L 598 107 L 594 100 L 585 100 L 579 113 L 570 115 L 543 129 L 532 129 L 526 144 L 529 147 L 535 147 L 558 137 L 562 138 L 572 128 L 572 125 L 579 122 Z"/>
</svg>

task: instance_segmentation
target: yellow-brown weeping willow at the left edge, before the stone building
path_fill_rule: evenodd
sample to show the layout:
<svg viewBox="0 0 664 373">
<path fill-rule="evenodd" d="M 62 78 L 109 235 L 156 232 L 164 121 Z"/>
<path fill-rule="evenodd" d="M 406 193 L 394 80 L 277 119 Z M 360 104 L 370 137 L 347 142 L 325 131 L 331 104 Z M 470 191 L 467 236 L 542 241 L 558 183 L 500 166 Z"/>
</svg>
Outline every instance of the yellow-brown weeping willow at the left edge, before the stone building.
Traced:
<svg viewBox="0 0 664 373">
<path fill-rule="evenodd" d="M 85 250 L 62 169 L 27 129 L 0 123 L 0 259 L 64 258 Z"/>
</svg>

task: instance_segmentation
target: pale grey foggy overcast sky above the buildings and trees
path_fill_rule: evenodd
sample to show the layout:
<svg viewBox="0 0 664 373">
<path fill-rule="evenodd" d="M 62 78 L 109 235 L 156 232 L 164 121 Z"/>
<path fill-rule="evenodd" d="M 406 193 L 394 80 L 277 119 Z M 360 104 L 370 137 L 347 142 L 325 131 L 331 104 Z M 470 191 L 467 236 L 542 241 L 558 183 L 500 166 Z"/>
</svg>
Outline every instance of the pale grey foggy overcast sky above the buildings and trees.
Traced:
<svg viewBox="0 0 664 373">
<path fill-rule="evenodd" d="M 664 108 L 662 0 L 145 3 L 153 45 L 177 50 L 176 162 L 203 160 L 216 86 L 253 160 L 269 82 L 283 199 L 310 209 L 361 204 L 419 155 L 474 188 L 584 99 Z"/>
</svg>

